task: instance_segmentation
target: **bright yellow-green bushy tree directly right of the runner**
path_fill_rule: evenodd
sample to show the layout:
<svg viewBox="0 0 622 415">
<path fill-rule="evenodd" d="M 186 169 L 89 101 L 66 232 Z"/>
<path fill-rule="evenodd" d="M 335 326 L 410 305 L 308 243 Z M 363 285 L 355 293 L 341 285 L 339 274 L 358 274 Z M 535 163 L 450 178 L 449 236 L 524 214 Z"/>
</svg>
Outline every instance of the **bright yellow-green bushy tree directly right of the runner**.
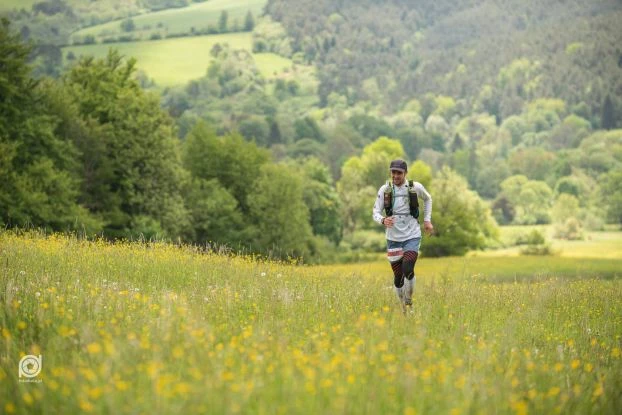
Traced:
<svg viewBox="0 0 622 415">
<path fill-rule="evenodd" d="M 451 169 L 445 167 L 434 177 L 431 194 L 435 235 L 422 244 L 425 255 L 464 255 L 497 236 L 490 209 Z"/>
</svg>

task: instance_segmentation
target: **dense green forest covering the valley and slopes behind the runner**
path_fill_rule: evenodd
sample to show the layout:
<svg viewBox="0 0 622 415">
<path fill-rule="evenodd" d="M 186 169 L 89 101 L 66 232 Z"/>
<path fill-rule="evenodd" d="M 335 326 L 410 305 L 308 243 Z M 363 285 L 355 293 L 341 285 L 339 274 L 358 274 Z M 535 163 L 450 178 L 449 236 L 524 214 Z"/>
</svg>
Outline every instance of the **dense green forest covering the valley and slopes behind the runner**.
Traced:
<svg viewBox="0 0 622 415">
<path fill-rule="evenodd" d="M 77 3 L 2 25 L 4 226 L 330 261 L 383 249 L 371 206 L 397 157 L 434 198 L 428 255 L 495 246 L 497 224 L 622 223 L 619 1 L 271 0 L 253 48 L 286 73 L 222 44 L 164 89 L 114 50 L 42 58 L 36 33 L 88 25 Z M 110 16 L 162 6 L 124 4 Z"/>
</svg>

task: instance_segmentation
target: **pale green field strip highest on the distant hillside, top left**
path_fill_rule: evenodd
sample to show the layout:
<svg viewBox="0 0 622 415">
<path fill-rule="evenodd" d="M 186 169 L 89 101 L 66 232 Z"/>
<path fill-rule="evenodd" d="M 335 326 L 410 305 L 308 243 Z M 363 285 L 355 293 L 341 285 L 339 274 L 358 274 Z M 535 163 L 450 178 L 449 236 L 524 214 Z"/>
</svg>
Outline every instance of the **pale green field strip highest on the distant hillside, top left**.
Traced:
<svg viewBox="0 0 622 415">
<path fill-rule="evenodd" d="M 134 16 L 132 20 L 136 25 L 137 33 L 151 33 L 153 31 L 159 31 L 162 35 L 166 33 L 187 33 L 193 27 L 196 30 L 201 30 L 208 25 L 217 26 L 223 10 L 227 11 L 229 27 L 233 25 L 234 20 L 237 20 L 241 26 L 244 24 L 244 18 L 249 11 L 257 19 L 262 14 L 265 4 L 266 0 L 209 0 L 188 7 Z M 158 28 L 158 25 L 162 27 Z M 120 21 L 117 20 L 79 30 L 72 35 L 72 38 L 81 38 L 86 35 L 93 35 L 97 38 L 121 33 Z"/>
</svg>

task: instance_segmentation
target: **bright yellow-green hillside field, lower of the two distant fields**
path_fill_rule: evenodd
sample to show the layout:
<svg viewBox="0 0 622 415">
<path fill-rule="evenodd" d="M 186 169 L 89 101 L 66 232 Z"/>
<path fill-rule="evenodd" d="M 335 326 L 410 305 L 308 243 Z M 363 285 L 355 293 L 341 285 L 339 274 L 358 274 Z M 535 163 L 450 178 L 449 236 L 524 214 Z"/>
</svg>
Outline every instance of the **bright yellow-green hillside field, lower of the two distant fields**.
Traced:
<svg viewBox="0 0 622 415">
<path fill-rule="evenodd" d="M 209 52 L 216 43 L 228 43 L 234 49 L 252 50 L 250 33 L 228 33 L 149 42 L 69 46 L 63 48 L 63 56 L 73 52 L 76 57 L 91 55 L 101 58 L 110 48 L 115 48 L 124 56 L 136 58 L 137 67 L 158 85 L 172 86 L 204 76 L 212 59 Z M 292 65 L 291 60 L 273 53 L 254 54 L 254 57 L 257 68 L 267 78 Z"/>
</svg>

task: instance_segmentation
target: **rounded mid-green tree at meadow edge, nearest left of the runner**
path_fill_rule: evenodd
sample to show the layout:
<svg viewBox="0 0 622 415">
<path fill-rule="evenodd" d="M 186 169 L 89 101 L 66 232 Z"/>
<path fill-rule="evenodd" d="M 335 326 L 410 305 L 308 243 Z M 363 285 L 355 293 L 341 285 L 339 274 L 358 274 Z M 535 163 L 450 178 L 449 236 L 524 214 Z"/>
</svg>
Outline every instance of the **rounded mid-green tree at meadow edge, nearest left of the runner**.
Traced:
<svg viewBox="0 0 622 415">
<path fill-rule="evenodd" d="M 304 257 L 312 231 L 300 174 L 283 164 L 265 164 L 248 196 L 256 224 L 253 250 L 277 258 Z"/>
</svg>

